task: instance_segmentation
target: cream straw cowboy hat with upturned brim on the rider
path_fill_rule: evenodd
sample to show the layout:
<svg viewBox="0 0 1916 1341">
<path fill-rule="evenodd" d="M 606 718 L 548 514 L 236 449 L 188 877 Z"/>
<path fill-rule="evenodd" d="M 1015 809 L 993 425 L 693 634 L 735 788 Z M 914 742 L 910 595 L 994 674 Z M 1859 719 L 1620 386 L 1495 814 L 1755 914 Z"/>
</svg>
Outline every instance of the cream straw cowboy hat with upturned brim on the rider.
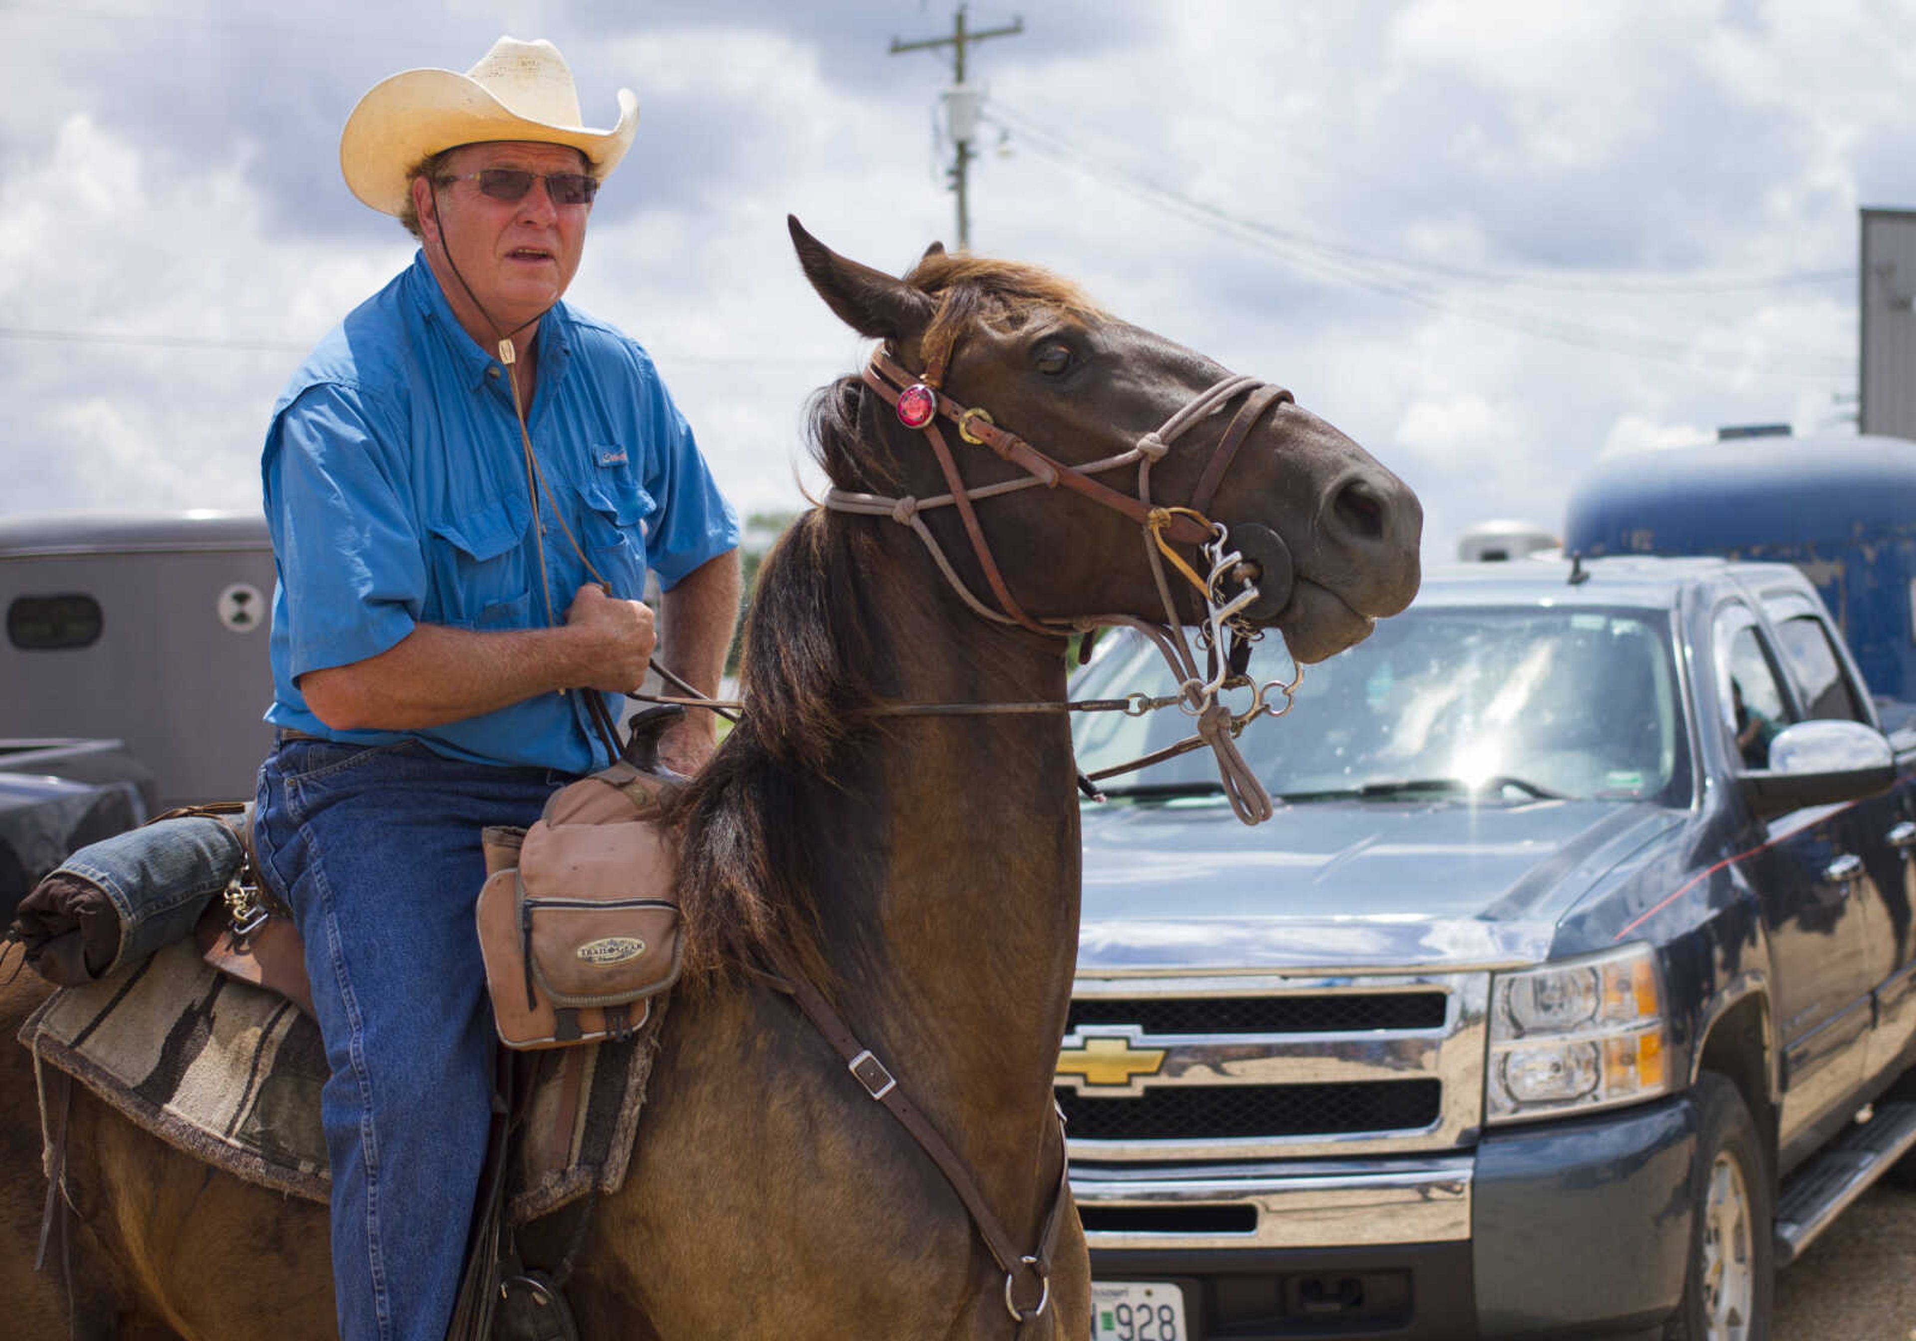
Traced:
<svg viewBox="0 0 1916 1341">
<path fill-rule="evenodd" d="M 619 90 L 619 125 L 592 130 L 581 123 L 559 48 L 502 36 L 464 75 L 408 69 L 374 84 L 347 117 L 339 170 L 364 203 L 399 215 L 412 197 L 406 172 L 429 153 L 481 140 L 569 144 L 604 182 L 632 148 L 634 130 L 638 98 L 630 88 Z"/>
</svg>

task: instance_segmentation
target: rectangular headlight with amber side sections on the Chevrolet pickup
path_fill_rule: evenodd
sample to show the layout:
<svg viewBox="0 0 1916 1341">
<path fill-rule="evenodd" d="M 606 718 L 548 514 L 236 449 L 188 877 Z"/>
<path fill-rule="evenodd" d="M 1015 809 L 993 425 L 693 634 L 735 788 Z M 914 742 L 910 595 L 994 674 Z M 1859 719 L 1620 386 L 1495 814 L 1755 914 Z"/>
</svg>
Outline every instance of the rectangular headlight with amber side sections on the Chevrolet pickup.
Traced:
<svg viewBox="0 0 1916 1341">
<path fill-rule="evenodd" d="M 1663 985 L 1648 944 L 1498 973 L 1491 983 L 1491 1123 L 1669 1092 Z"/>
</svg>

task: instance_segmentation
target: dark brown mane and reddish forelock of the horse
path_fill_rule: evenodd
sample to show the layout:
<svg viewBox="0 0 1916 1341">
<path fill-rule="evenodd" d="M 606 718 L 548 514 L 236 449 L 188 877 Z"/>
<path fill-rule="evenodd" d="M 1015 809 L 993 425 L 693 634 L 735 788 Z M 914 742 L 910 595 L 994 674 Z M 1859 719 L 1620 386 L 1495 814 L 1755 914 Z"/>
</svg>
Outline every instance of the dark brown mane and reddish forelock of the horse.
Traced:
<svg viewBox="0 0 1916 1341">
<path fill-rule="evenodd" d="M 975 324 L 1015 328 L 1042 308 L 1100 314 L 1067 280 L 1008 261 L 929 251 L 904 280 L 939 299 L 924 345 L 954 341 Z M 899 462 L 883 433 L 862 431 L 866 398 L 856 375 L 812 393 L 809 448 L 833 487 L 887 492 Z M 740 648 L 743 720 L 669 814 L 680 847 L 684 983 L 694 992 L 780 960 L 830 990 L 814 793 L 841 785 L 847 745 L 874 730 L 862 709 L 891 670 L 874 638 L 874 571 L 876 525 L 824 508 L 791 523 L 759 567 Z"/>
</svg>

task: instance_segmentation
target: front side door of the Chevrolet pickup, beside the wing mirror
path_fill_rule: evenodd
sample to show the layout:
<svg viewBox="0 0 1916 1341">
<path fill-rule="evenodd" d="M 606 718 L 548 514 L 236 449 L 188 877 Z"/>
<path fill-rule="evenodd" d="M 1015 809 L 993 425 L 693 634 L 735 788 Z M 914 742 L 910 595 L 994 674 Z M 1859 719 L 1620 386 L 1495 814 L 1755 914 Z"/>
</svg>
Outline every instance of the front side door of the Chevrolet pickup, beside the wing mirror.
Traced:
<svg viewBox="0 0 1916 1341">
<path fill-rule="evenodd" d="M 1768 766 L 1768 741 L 1801 707 L 1755 613 L 1726 605 L 1715 621 L 1719 701 L 1730 755 Z M 1774 1021 L 1784 1050 L 1780 1136 L 1811 1132 L 1862 1082 L 1870 981 L 1857 885 L 1860 860 L 1837 835 L 1843 807 L 1805 807 L 1751 820 L 1744 872 L 1770 939 Z M 1845 1115 L 1847 1117 L 1847 1115 Z"/>
</svg>

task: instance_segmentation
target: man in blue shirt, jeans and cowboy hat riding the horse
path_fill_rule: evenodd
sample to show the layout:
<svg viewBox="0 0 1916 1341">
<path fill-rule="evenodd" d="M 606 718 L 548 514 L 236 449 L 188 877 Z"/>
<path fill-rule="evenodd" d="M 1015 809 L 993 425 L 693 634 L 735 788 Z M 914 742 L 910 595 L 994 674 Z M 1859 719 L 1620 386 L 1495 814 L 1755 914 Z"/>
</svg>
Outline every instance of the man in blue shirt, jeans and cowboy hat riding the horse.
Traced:
<svg viewBox="0 0 1916 1341">
<path fill-rule="evenodd" d="M 458 1289 L 492 1088 L 481 826 L 531 824 L 609 761 L 602 695 L 653 651 L 648 571 L 661 659 L 705 693 L 738 609 L 738 519 L 651 360 L 559 301 L 632 142 L 619 103 L 613 130 L 584 128 L 558 50 L 513 38 L 368 92 L 341 169 L 422 247 L 266 435 L 278 745 L 257 839 L 331 1071 L 349 1341 L 439 1341 Z M 661 759 L 694 772 L 713 741 L 692 713 Z"/>
</svg>

